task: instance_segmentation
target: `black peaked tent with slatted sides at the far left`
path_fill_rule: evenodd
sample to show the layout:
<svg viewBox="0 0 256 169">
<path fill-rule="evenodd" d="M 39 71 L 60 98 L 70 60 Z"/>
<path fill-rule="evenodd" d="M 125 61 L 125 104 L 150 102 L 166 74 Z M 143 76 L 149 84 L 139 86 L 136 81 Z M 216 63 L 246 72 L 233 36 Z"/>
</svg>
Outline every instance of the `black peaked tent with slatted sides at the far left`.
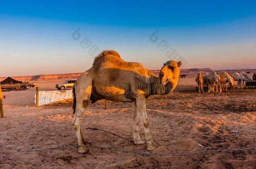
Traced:
<svg viewBox="0 0 256 169">
<path fill-rule="evenodd" d="M 16 81 L 13 78 L 6 78 L 5 80 L 1 81 L 1 89 L 2 91 L 9 91 L 9 90 L 16 90 L 16 91 L 20 91 L 20 90 L 24 90 L 26 89 L 26 85 L 24 83 L 22 83 L 21 81 Z"/>
</svg>

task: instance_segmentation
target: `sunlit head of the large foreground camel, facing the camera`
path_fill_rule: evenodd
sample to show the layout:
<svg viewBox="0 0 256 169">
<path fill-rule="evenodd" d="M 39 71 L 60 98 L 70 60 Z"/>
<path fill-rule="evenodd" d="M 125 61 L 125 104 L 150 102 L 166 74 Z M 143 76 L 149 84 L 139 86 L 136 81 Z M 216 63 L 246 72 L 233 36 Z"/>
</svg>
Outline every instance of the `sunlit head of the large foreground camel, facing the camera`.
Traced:
<svg viewBox="0 0 256 169">
<path fill-rule="evenodd" d="M 172 92 L 177 86 L 180 76 L 180 66 L 181 61 L 167 61 L 159 73 L 162 86 L 167 86 L 167 93 Z"/>
</svg>

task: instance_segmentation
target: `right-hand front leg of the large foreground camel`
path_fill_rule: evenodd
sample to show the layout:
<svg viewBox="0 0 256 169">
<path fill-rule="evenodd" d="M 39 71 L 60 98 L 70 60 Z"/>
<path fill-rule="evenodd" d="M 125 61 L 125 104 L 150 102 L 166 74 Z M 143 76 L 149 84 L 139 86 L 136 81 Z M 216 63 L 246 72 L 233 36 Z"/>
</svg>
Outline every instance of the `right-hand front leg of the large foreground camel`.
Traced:
<svg viewBox="0 0 256 169">
<path fill-rule="evenodd" d="M 152 136 L 149 132 L 149 119 L 147 117 L 146 114 L 146 98 L 144 95 L 142 94 L 138 94 L 138 96 L 136 97 L 136 104 L 138 106 L 138 112 L 139 112 L 139 117 L 141 119 L 141 122 L 143 124 L 143 129 L 145 132 L 145 139 L 146 142 L 148 144 L 148 150 L 154 150 L 156 149 L 158 146 L 156 144 L 154 144 L 154 141 L 152 139 Z"/>
</svg>

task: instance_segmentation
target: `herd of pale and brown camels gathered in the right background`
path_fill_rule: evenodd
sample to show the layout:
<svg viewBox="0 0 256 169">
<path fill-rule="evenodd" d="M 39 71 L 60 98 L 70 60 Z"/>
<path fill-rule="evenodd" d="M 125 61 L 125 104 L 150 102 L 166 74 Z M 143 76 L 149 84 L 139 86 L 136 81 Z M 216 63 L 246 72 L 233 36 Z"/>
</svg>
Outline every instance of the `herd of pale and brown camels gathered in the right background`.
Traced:
<svg viewBox="0 0 256 169">
<path fill-rule="evenodd" d="M 233 89 L 235 91 L 235 81 L 237 81 L 237 88 L 243 88 L 244 82 L 252 82 L 256 81 L 256 73 L 253 73 L 253 79 L 251 79 L 247 73 L 245 72 L 235 72 L 235 73 L 227 73 L 225 71 L 215 72 L 211 71 L 210 73 L 206 73 L 205 76 L 202 76 L 201 72 L 199 72 L 196 76 L 196 83 L 199 88 L 199 93 L 204 93 L 204 86 L 208 87 L 208 92 L 216 91 L 221 93 L 222 91 L 227 91 L 227 85 L 229 84 L 228 92 Z"/>
</svg>

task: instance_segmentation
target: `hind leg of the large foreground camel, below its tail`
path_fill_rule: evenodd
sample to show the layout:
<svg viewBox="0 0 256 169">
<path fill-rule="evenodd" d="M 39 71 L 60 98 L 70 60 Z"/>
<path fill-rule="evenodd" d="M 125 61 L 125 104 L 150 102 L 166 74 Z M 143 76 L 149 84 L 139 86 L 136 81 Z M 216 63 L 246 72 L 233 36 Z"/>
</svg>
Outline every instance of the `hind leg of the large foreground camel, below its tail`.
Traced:
<svg viewBox="0 0 256 169">
<path fill-rule="evenodd" d="M 84 114 L 85 108 L 90 102 L 92 89 L 92 77 L 89 71 L 83 73 L 78 77 L 76 83 L 74 84 L 74 117 L 73 117 L 73 126 L 76 131 L 76 136 L 78 139 L 78 152 L 79 153 L 88 153 L 89 149 L 84 147 L 86 142 L 82 136 L 81 131 L 81 119 Z"/>
</svg>

